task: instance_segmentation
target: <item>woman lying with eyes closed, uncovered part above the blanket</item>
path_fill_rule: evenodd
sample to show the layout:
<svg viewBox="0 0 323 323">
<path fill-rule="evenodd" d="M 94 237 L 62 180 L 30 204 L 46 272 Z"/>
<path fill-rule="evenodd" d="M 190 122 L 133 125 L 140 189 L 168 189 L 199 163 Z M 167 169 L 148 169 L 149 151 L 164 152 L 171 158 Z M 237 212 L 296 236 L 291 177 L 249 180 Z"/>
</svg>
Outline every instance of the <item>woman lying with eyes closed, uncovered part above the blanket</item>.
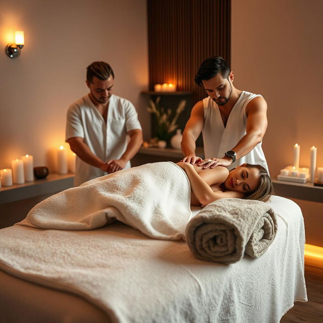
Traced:
<svg viewBox="0 0 323 323">
<path fill-rule="evenodd" d="M 203 169 L 203 166 L 177 163 L 191 184 L 191 205 L 207 205 L 220 198 L 244 198 L 267 201 L 274 193 L 272 180 L 260 165 L 242 164 L 229 170 L 218 166 Z"/>
</svg>

